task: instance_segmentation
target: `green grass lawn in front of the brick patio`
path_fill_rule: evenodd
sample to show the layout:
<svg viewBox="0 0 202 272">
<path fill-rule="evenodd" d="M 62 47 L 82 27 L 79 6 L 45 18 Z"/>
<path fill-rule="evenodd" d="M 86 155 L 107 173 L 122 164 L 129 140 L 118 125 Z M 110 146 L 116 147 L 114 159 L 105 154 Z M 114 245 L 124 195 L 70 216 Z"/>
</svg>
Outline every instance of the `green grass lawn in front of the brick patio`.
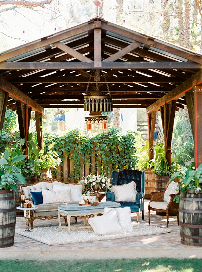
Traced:
<svg viewBox="0 0 202 272">
<path fill-rule="evenodd" d="M 202 259 L 0 260 L 0 272 L 201 272 Z"/>
</svg>

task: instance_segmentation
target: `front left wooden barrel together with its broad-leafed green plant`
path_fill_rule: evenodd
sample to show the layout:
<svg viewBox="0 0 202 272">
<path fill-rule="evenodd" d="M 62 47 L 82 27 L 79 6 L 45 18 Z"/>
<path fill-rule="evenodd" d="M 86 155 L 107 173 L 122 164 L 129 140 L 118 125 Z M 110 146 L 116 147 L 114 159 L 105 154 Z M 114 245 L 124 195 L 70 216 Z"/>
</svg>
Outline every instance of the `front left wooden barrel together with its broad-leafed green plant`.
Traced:
<svg viewBox="0 0 202 272">
<path fill-rule="evenodd" d="M 16 156 L 15 151 L 9 155 L 7 148 L 4 158 L 0 159 L 0 229 L 2 229 L 0 247 L 13 245 L 16 221 L 13 190 L 17 190 L 18 182 L 26 184 L 26 180 L 20 174 L 20 167 L 16 166 L 17 163 L 24 161 L 26 155 Z"/>
</svg>

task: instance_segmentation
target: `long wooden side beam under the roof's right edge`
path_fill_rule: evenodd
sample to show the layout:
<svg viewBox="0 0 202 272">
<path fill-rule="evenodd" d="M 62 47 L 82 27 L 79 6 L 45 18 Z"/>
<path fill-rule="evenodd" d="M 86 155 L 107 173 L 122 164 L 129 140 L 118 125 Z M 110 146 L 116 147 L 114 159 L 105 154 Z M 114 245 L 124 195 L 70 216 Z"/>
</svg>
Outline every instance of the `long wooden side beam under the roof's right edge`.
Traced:
<svg viewBox="0 0 202 272">
<path fill-rule="evenodd" d="M 185 82 L 180 84 L 178 87 L 174 88 L 168 94 L 164 95 L 162 98 L 154 102 L 152 105 L 147 107 L 148 112 L 152 112 L 154 110 L 158 110 L 162 105 L 168 103 L 172 100 L 177 100 L 185 95 L 186 92 L 192 90 L 193 86 L 197 86 L 202 84 L 202 70 L 197 72 L 195 75 L 191 76 Z M 180 104 L 177 104 L 178 107 Z"/>
</svg>

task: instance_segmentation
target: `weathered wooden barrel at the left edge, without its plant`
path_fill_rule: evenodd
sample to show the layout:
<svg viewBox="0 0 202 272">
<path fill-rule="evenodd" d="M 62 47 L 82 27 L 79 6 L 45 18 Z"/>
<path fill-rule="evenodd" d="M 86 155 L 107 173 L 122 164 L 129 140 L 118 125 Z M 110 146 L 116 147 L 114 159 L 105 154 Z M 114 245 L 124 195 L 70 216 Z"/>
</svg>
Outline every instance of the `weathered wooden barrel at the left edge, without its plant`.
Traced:
<svg viewBox="0 0 202 272">
<path fill-rule="evenodd" d="M 15 202 L 13 192 L 0 190 L 0 247 L 11 247 L 15 236 Z"/>
</svg>

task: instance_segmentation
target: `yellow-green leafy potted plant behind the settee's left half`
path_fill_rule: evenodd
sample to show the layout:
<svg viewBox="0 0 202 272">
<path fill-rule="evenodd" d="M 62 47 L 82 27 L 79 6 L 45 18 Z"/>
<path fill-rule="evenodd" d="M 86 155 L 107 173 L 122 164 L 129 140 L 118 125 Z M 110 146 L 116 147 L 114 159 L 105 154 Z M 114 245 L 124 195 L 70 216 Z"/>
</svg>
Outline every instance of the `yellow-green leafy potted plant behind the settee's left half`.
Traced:
<svg viewBox="0 0 202 272">
<path fill-rule="evenodd" d="M 38 165 L 43 178 L 52 178 L 51 168 L 56 169 L 62 162 L 57 152 L 51 150 L 54 145 L 55 142 L 50 144 L 48 150 L 45 151 L 45 143 L 43 143 L 42 149 L 39 151 L 40 159 L 38 160 Z"/>
</svg>

